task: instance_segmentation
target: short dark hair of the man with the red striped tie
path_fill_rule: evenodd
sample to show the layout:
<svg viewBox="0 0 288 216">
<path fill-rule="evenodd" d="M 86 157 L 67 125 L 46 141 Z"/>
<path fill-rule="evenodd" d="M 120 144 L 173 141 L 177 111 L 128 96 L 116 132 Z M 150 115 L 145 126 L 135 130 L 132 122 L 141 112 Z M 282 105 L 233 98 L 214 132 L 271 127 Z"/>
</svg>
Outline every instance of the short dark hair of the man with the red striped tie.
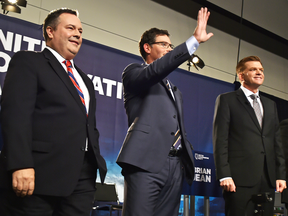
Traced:
<svg viewBox="0 0 288 216">
<path fill-rule="evenodd" d="M 54 30 L 56 30 L 58 24 L 59 24 L 59 16 L 63 13 L 69 13 L 69 14 L 73 14 L 75 16 L 79 16 L 79 13 L 77 10 L 73 10 L 73 9 L 69 9 L 69 8 L 59 8 L 56 10 L 52 10 L 50 11 L 50 13 L 48 14 L 48 16 L 46 17 L 46 19 L 44 20 L 44 24 L 43 24 L 43 36 L 45 41 L 47 42 L 48 40 L 48 35 L 46 32 L 46 28 L 48 26 L 52 27 Z"/>
</svg>

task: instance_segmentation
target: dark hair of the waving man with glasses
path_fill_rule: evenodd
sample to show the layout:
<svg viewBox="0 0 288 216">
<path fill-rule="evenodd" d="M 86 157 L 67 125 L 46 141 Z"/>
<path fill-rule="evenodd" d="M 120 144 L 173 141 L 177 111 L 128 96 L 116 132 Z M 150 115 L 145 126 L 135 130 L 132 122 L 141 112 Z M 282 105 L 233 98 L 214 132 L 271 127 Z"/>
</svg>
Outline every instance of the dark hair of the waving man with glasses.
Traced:
<svg viewBox="0 0 288 216">
<path fill-rule="evenodd" d="M 168 37 L 170 36 L 167 30 L 162 30 L 158 28 L 151 28 L 142 34 L 141 39 L 139 41 L 139 51 L 144 60 L 146 60 L 147 53 L 145 52 L 143 45 L 145 43 L 152 45 L 155 42 L 156 36 L 158 35 L 167 35 Z"/>
</svg>

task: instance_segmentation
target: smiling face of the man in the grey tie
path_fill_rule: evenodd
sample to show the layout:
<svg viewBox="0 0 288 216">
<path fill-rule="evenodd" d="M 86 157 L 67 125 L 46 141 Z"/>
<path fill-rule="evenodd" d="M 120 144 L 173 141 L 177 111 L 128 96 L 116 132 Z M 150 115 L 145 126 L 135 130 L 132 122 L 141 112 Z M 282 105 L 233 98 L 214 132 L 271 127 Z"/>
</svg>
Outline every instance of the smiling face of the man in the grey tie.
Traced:
<svg viewBox="0 0 288 216">
<path fill-rule="evenodd" d="M 260 85 L 264 82 L 264 68 L 258 61 L 245 63 L 246 69 L 239 74 L 242 85 L 250 91 L 257 92 Z"/>
</svg>

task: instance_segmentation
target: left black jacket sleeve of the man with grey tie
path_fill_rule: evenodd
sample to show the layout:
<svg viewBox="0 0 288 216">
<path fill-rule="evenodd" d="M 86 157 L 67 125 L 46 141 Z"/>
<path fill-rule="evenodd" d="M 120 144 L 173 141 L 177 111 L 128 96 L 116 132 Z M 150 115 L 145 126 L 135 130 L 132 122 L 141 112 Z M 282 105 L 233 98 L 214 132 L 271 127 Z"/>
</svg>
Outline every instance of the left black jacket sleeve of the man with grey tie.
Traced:
<svg viewBox="0 0 288 216">
<path fill-rule="evenodd" d="M 218 180 L 232 176 L 228 163 L 230 110 L 225 99 L 226 98 L 223 97 L 223 95 L 217 97 L 213 121 L 213 150 L 216 178 Z"/>
</svg>

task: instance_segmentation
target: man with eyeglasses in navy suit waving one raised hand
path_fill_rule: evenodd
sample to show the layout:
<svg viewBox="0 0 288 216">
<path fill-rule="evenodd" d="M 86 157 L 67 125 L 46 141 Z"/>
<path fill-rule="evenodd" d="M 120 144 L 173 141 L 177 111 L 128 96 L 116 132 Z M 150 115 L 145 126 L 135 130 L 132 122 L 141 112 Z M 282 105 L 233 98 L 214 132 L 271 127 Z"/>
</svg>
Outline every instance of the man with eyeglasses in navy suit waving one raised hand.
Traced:
<svg viewBox="0 0 288 216">
<path fill-rule="evenodd" d="M 209 15 L 201 8 L 193 36 L 174 50 L 168 31 L 144 32 L 139 48 L 145 63 L 124 69 L 129 128 L 117 158 L 125 181 L 123 216 L 178 215 L 184 173 L 192 184 L 194 163 L 182 96 L 166 77 L 212 37 L 206 32 Z"/>
</svg>

